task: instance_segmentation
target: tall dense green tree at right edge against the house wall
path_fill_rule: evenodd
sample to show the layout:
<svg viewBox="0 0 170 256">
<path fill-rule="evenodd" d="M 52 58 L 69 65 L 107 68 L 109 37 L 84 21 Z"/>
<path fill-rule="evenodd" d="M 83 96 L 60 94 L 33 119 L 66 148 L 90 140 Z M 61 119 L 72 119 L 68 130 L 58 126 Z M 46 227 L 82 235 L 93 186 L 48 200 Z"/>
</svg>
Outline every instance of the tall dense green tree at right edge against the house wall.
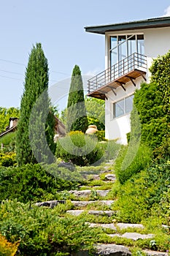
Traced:
<svg viewBox="0 0 170 256">
<path fill-rule="evenodd" d="M 158 57 L 152 63 L 151 83 L 143 83 L 134 95 L 134 105 L 141 122 L 141 140 L 150 148 L 163 146 L 169 140 L 170 122 L 170 52 Z M 131 112 L 131 131 L 139 130 L 134 122 L 134 111 Z"/>
</svg>

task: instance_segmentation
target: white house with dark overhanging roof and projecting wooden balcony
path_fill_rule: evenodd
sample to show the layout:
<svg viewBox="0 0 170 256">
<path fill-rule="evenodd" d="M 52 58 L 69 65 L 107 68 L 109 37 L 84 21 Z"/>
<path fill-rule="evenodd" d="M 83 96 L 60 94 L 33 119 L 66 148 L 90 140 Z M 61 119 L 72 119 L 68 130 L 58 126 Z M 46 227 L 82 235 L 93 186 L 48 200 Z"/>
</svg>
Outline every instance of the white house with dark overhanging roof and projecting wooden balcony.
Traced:
<svg viewBox="0 0 170 256">
<path fill-rule="evenodd" d="M 170 49 L 170 17 L 87 26 L 85 31 L 105 36 L 105 70 L 88 80 L 88 96 L 105 100 L 106 138 L 126 144 L 134 91 L 149 82 L 152 59 Z"/>
</svg>

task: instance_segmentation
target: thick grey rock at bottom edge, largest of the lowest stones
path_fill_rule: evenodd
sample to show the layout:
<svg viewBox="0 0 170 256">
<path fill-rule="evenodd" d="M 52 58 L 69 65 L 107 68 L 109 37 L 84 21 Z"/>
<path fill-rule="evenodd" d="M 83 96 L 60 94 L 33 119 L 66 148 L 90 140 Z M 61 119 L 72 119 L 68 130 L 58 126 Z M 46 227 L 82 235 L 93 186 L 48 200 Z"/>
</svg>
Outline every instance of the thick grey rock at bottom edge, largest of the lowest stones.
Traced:
<svg viewBox="0 0 170 256">
<path fill-rule="evenodd" d="M 127 247 L 116 244 L 98 244 L 96 247 L 96 255 L 108 256 L 129 256 L 131 252 Z"/>
</svg>

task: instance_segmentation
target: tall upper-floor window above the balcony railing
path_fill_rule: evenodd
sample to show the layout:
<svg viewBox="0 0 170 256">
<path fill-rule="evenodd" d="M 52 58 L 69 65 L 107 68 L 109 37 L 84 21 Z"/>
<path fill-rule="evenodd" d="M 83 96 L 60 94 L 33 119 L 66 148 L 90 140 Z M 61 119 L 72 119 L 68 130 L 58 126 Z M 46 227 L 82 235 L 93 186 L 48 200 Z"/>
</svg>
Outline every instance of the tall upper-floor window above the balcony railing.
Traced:
<svg viewBox="0 0 170 256">
<path fill-rule="evenodd" d="M 110 65 L 122 61 L 133 53 L 144 54 L 144 35 L 129 34 L 110 37 Z"/>
</svg>

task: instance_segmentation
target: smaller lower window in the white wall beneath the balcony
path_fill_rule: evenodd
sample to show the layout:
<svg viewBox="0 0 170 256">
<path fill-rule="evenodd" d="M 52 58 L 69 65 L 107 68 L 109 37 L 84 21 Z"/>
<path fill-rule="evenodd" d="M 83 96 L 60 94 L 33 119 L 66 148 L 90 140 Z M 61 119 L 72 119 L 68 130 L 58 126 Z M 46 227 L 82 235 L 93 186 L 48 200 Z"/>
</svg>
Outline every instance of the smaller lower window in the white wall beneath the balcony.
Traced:
<svg viewBox="0 0 170 256">
<path fill-rule="evenodd" d="M 123 116 L 127 113 L 130 113 L 133 108 L 133 99 L 134 95 L 125 97 L 118 102 L 113 104 L 113 118 Z"/>
</svg>

